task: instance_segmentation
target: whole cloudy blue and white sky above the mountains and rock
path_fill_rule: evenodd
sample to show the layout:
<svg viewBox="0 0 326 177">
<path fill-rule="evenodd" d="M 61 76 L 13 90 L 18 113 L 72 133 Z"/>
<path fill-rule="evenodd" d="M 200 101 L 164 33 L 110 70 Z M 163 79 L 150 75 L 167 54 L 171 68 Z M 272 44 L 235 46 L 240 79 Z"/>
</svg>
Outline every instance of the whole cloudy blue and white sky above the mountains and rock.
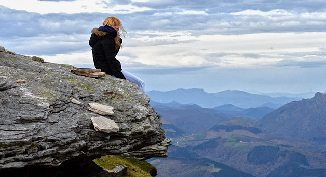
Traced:
<svg viewBox="0 0 326 177">
<path fill-rule="evenodd" d="M 0 46 L 94 68 L 88 40 L 109 16 L 146 91 L 326 91 L 324 0 L 0 0 Z"/>
</svg>

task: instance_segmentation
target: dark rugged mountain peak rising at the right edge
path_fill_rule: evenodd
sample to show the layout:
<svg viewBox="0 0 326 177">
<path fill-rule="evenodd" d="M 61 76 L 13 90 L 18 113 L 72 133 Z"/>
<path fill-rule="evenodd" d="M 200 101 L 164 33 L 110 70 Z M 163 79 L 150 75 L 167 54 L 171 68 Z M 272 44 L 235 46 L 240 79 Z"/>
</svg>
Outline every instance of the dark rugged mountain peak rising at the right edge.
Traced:
<svg viewBox="0 0 326 177">
<path fill-rule="evenodd" d="M 293 101 L 265 115 L 260 121 L 267 132 L 312 141 L 326 138 L 326 94 Z"/>
</svg>

